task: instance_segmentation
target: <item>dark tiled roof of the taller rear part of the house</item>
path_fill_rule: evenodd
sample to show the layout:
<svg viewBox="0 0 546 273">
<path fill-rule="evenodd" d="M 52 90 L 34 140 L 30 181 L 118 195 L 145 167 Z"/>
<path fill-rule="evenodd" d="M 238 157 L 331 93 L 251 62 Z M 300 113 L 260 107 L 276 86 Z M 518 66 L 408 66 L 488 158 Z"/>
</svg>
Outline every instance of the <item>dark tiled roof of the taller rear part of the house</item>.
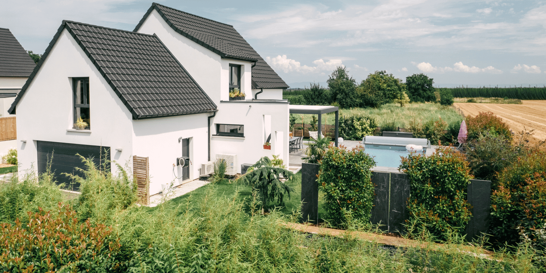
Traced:
<svg viewBox="0 0 546 273">
<path fill-rule="evenodd" d="M 233 26 L 213 21 L 184 11 L 153 3 L 143 19 L 136 25 L 138 31 L 152 10 L 163 17 L 174 31 L 195 41 L 222 58 L 234 58 L 256 62 L 252 68 L 252 88 L 288 88 L 280 76 L 262 57 L 242 38 Z"/>
</svg>

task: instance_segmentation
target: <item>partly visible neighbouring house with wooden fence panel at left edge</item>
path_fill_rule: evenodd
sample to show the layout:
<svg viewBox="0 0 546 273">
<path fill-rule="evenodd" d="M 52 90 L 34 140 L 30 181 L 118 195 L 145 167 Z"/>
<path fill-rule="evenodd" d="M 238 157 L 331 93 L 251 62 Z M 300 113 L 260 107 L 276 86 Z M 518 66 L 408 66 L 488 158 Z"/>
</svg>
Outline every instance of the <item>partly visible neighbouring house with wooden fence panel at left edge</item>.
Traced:
<svg viewBox="0 0 546 273">
<path fill-rule="evenodd" d="M 15 115 L 8 109 L 35 66 L 9 29 L 0 27 L 0 156 L 17 146 Z"/>
</svg>

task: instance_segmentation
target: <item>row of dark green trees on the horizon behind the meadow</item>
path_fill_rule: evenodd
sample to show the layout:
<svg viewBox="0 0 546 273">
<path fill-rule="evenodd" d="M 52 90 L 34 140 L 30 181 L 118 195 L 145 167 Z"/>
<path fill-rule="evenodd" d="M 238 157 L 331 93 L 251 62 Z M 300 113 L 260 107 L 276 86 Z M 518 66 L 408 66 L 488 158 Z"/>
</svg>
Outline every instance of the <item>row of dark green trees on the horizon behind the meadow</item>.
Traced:
<svg viewBox="0 0 546 273">
<path fill-rule="evenodd" d="M 345 67 L 337 67 L 327 80 L 328 88 L 311 83 L 306 90 L 291 90 L 284 98 L 291 104 L 335 105 L 340 108 L 373 107 L 386 103 L 433 102 L 436 100 L 433 79 L 424 74 L 413 74 L 406 83 L 386 71 L 376 71 L 360 84 L 349 76 Z M 453 104 L 449 91 L 443 92 L 442 104 Z M 442 95 L 442 94 L 441 94 Z M 450 98 L 450 99 L 449 99 Z"/>
</svg>

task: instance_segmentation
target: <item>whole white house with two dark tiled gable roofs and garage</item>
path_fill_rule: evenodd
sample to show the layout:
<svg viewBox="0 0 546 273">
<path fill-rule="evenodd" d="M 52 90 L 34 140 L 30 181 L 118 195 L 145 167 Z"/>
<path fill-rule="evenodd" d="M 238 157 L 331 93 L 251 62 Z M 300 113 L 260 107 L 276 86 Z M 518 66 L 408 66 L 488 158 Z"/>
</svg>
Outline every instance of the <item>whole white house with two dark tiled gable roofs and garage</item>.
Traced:
<svg viewBox="0 0 546 273">
<path fill-rule="evenodd" d="M 232 26 L 159 4 L 135 32 L 63 21 L 9 109 L 19 171 L 42 173 L 50 160 L 70 182 L 61 173 L 82 167 L 79 153 L 144 171 L 155 194 L 217 157 L 234 159 L 233 173 L 262 156 L 288 165 L 287 87 Z M 230 88 L 246 100 L 230 101 Z"/>
</svg>

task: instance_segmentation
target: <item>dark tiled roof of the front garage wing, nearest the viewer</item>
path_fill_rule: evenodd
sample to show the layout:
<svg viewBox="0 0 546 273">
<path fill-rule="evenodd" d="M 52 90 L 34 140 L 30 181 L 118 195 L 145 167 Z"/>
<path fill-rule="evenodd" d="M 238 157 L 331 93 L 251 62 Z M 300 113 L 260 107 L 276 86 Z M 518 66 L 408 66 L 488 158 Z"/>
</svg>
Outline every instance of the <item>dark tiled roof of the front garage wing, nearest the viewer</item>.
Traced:
<svg viewBox="0 0 546 273">
<path fill-rule="evenodd" d="M 63 29 L 84 50 L 133 119 L 215 111 L 216 105 L 156 35 L 63 21 L 10 112 Z"/>
</svg>

